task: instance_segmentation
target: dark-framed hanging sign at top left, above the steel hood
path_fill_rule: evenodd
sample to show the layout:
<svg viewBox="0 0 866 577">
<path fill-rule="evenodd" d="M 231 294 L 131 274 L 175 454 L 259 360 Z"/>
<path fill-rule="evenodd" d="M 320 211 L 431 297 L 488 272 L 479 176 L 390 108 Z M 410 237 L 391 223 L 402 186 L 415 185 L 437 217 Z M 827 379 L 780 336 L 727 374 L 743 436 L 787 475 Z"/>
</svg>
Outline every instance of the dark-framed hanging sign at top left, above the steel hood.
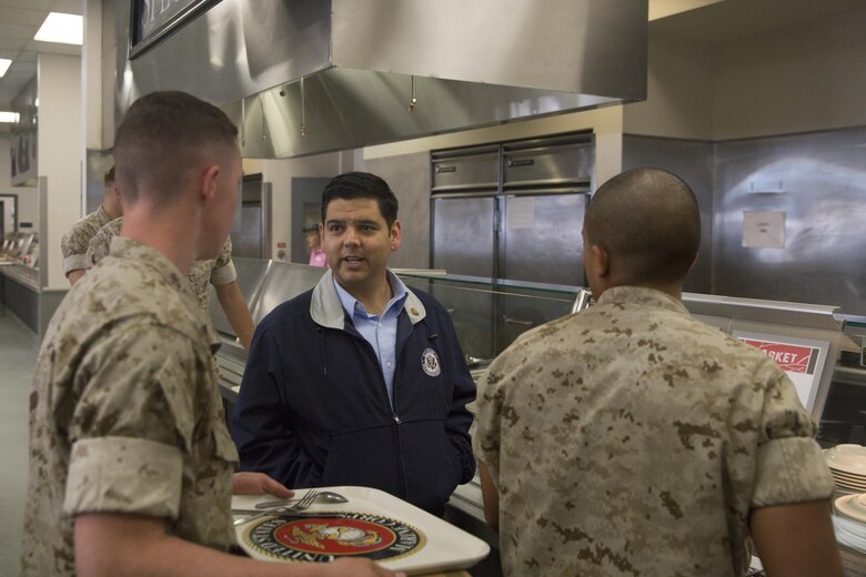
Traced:
<svg viewBox="0 0 866 577">
<path fill-rule="evenodd" d="M 220 0 L 132 0 L 129 59 L 134 60 Z"/>
</svg>

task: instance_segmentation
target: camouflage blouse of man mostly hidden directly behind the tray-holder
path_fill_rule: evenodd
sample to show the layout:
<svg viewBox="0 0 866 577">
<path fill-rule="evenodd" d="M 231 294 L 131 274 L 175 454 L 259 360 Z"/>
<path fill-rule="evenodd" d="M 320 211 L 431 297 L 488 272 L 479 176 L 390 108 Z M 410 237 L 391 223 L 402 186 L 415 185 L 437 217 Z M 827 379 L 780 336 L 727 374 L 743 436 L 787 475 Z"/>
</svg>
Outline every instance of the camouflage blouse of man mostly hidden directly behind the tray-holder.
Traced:
<svg viewBox="0 0 866 577">
<path fill-rule="evenodd" d="M 99 232 L 93 235 L 93 240 L 90 241 L 90 247 L 87 250 L 84 269 L 97 264 L 108 253 L 111 244 L 111 239 L 120 234 L 120 226 L 123 224 L 123 216 L 114 219 Z M 210 285 L 222 286 L 223 284 L 233 283 L 238 279 L 238 273 L 234 270 L 234 263 L 232 262 L 232 240 L 225 239 L 216 259 L 205 259 L 195 261 L 195 264 L 187 273 L 192 284 L 192 290 L 195 296 L 199 298 L 199 306 L 202 311 L 209 311 L 210 306 Z"/>
</svg>

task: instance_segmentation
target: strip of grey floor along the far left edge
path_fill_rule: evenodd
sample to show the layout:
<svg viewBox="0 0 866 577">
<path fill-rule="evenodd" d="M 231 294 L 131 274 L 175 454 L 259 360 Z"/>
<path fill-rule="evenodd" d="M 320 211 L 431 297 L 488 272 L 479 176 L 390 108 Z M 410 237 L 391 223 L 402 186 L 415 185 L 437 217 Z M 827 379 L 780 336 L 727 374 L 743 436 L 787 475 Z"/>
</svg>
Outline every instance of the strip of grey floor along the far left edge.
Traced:
<svg viewBox="0 0 866 577">
<path fill-rule="evenodd" d="M 19 575 L 28 469 L 28 395 L 36 366 L 32 333 L 0 305 L 0 575 Z"/>
</svg>

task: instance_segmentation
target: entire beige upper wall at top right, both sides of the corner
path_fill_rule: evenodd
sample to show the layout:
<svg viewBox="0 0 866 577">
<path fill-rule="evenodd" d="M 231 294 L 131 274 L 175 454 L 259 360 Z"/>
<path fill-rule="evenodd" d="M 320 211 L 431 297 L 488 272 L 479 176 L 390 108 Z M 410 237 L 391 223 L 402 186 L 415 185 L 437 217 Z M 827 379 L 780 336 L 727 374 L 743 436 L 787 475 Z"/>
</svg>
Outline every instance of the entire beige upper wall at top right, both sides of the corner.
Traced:
<svg viewBox="0 0 866 577">
<path fill-rule="evenodd" d="M 717 45 L 651 23 L 647 99 L 625 107 L 625 132 L 719 141 L 864 125 L 865 31 L 866 8 Z"/>
</svg>

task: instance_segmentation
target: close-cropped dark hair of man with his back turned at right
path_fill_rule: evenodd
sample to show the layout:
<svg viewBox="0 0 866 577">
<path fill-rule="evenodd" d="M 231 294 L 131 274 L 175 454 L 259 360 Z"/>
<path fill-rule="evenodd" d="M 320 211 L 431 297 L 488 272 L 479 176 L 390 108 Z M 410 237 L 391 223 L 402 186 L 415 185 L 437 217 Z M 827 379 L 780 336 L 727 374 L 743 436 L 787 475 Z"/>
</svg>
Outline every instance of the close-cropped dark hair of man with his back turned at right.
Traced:
<svg viewBox="0 0 866 577">
<path fill-rule="evenodd" d="M 682 281 L 701 245 L 692 189 L 662 169 L 634 169 L 605 182 L 586 209 L 591 244 L 611 255 L 625 283 Z"/>
</svg>

